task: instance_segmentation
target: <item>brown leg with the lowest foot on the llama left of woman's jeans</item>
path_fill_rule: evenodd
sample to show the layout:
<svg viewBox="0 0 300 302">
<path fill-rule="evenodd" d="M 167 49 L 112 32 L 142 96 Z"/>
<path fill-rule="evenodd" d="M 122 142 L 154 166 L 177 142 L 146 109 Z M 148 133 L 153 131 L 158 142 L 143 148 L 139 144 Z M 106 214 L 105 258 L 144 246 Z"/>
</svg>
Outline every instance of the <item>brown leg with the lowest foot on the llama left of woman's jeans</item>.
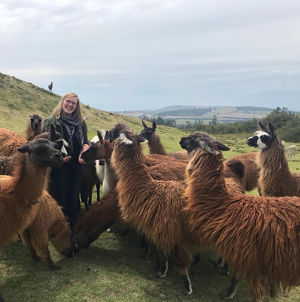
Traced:
<svg viewBox="0 0 300 302">
<path fill-rule="evenodd" d="M 47 232 L 34 232 L 31 230 L 31 239 L 32 245 L 36 249 L 37 253 L 42 257 L 43 260 L 46 261 L 47 266 L 50 268 L 51 271 L 59 270 L 60 267 L 56 266 L 51 259 L 50 252 L 49 252 L 49 236 Z"/>
</svg>

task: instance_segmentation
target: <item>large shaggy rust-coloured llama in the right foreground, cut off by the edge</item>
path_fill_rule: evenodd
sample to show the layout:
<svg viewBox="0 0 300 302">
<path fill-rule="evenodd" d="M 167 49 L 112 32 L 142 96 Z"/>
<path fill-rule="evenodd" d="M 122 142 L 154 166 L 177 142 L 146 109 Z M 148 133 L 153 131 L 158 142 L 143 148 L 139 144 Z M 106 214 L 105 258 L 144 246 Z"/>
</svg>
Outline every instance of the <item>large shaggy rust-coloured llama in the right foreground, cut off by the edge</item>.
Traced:
<svg viewBox="0 0 300 302">
<path fill-rule="evenodd" d="M 181 139 L 192 144 L 186 168 L 186 207 L 190 228 L 203 246 L 228 261 L 234 274 L 232 298 L 245 278 L 253 302 L 300 284 L 300 198 L 234 195 L 223 168 L 226 146 L 205 132 Z"/>
</svg>

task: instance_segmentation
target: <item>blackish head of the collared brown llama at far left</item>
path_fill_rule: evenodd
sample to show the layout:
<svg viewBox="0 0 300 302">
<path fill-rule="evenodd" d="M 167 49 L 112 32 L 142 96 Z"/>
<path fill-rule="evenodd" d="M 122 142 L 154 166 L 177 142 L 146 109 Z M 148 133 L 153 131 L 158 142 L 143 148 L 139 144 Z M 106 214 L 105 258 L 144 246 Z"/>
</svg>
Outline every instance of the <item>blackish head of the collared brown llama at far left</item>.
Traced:
<svg viewBox="0 0 300 302">
<path fill-rule="evenodd" d="M 26 143 L 17 150 L 21 153 L 27 153 L 27 158 L 33 165 L 60 167 L 64 160 L 58 147 L 57 143 L 50 142 L 46 138 L 39 138 Z"/>
</svg>

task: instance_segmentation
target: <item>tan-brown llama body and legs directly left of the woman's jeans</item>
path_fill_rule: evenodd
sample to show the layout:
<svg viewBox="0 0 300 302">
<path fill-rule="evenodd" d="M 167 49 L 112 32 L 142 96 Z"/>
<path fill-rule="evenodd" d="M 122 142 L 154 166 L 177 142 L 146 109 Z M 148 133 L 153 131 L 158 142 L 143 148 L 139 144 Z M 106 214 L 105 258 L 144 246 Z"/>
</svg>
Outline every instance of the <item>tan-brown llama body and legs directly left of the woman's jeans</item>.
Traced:
<svg viewBox="0 0 300 302">
<path fill-rule="evenodd" d="M 29 249 L 33 260 L 41 258 L 46 261 L 50 270 L 58 270 L 48 249 L 49 240 L 55 249 L 64 256 L 71 258 L 73 249 L 70 242 L 70 228 L 61 207 L 47 191 L 42 193 L 40 202 L 36 205 L 37 214 L 26 230 L 21 233 L 21 239 Z"/>
</svg>

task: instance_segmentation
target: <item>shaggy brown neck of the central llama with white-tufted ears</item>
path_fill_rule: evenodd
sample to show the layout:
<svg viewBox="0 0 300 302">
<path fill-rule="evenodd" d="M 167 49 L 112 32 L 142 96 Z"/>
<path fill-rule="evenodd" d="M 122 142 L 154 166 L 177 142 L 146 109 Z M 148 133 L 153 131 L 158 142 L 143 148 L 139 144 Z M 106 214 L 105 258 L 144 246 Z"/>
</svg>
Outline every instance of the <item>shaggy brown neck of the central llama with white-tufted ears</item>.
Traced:
<svg viewBox="0 0 300 302">
<path fill-rule="evenodd" d="M 140 182 L 152 182 L 153 179 L 144 164 L 144 155 L 139 143 L 125 145 L 119 143 L 115 146 L 111 165 L 119 182 L 126 182 L 131 185 Z"/>
</svg>

